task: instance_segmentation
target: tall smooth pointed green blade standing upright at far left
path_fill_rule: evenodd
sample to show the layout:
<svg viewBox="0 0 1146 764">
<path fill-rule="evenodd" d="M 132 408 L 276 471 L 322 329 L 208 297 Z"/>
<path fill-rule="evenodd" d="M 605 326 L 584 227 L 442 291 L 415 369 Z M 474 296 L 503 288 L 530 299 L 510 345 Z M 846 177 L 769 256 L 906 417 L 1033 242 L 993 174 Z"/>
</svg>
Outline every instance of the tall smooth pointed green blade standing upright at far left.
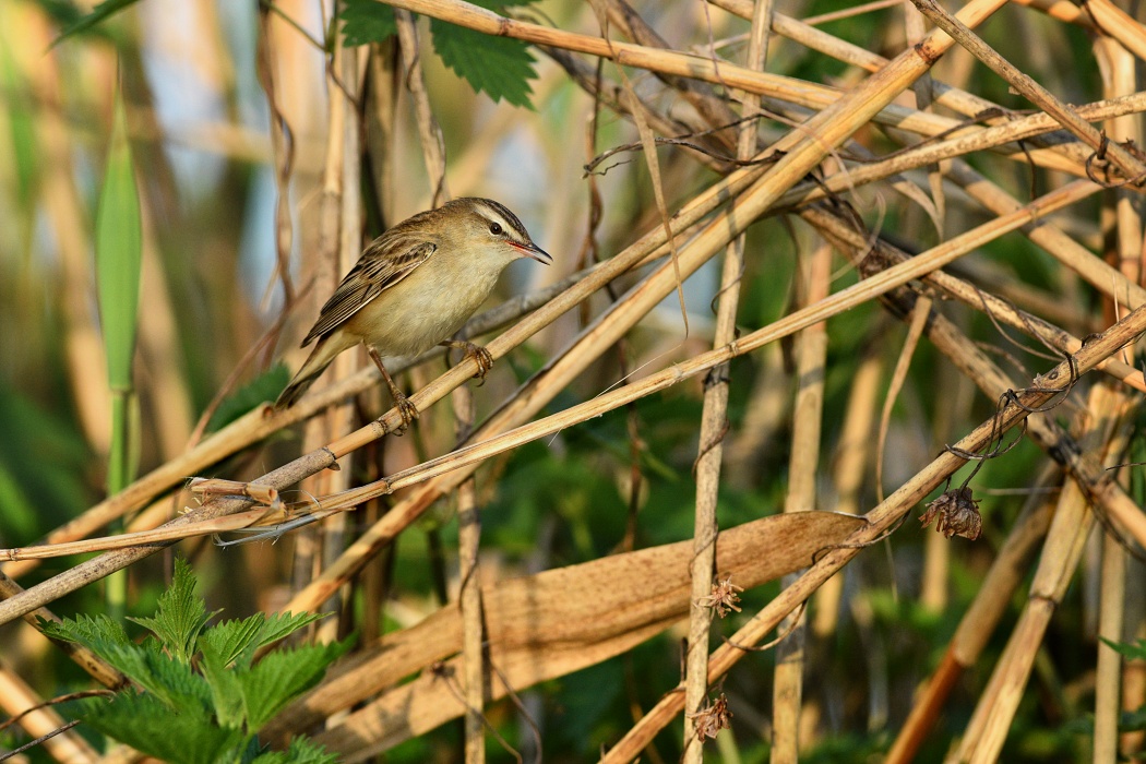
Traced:
<svg viewBox="0 0 1146 764">
<path fill-rule="evenodd" d="M 127 141 L 123 93 L 117 90 L 111 145 L 95 215 L 100 320 L 108 352 L 108 381 L 112 391 L 132 388 L 142 259 L 139 190 Z"/>
</svg>

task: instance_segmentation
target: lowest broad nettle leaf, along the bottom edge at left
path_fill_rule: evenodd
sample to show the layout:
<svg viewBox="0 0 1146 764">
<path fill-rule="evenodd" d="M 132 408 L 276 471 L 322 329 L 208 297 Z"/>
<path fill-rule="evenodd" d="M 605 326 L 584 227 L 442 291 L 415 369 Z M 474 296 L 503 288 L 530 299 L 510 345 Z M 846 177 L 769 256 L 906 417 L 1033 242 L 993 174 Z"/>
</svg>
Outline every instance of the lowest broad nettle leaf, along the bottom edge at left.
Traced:
<svg viewBox="0 0 1146 764">
<path fill-rule="evenodd" d="M 128 691 L 116 695 L 110 703 L 92 699 L 81 709 L 86 724 L 164 762 L 237 762 L 237 751 L 245 748 L 246 735 L 241 730 L 213 724 L 205 710 L 183 710 L 176 717 L 149 694 Z M 236 755 L 228 755 L 229 751 Z"/>
</svg>

